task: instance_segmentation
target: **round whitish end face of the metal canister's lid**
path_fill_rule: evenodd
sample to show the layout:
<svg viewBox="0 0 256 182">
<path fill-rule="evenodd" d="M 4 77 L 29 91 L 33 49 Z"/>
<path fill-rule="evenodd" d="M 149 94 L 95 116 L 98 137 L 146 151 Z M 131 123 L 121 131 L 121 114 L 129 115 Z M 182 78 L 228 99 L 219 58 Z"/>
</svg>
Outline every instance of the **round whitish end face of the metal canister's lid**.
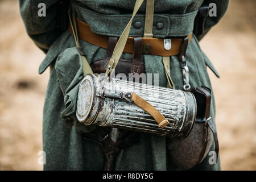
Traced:
<svg viewBox="0 0 256 182">
<path fill-rule="evenodd" d="M 87 75 L 83 78 L 77 95 L 76 118 L 79 122 L 86 123 L 86 119 L 92 110 L 93 98 L 93 78 L 90 75 Z"/>
</svg>

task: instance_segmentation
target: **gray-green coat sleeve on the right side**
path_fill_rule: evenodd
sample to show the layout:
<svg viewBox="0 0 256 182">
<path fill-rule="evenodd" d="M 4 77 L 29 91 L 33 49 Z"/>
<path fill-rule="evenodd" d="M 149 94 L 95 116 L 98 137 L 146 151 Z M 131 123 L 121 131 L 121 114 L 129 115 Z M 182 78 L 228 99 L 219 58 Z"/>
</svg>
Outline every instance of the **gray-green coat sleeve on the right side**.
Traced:
<svg viewBox="0 0 256 182">
<path fill-rule="evenodd" d="M 207 16 L 205 18 L 204 23 L 204 32 L 201 35 L 196 35 L 197 39 L 201 40 L 212 28 L 214 25 L 216 25 L 220 19 L 224 16 L 226 13 L 226 10 L 228 9 L 229 0 L 205 0 L 202 4 L 202 6 L 209 6 L 210 3 L 215 3 L 217 7 L 217 16 Z"/>
</svg>

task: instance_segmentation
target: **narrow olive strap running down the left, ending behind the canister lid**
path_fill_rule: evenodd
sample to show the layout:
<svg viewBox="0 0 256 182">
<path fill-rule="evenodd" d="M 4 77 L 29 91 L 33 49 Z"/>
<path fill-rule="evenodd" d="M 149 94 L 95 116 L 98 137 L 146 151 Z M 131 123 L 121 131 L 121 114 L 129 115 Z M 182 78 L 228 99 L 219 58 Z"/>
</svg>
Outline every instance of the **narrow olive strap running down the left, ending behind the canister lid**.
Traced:
<svg viewBox="0 0 256 182">
<path fill-rule="evenodd" d="M 71 17 L 72 14 L 72 17 Z M 84 55 L 84 53 L 82 52 L 81 46 L 79 44 L 79 35 L 77 33 L 77 24 L 76 24 L 76 18 L 72 13 L 71 10 L 71 5 L 69 6 L 69 10 L 68 10 L 68 18 L 69 18 L 69 22 L 71 24 L 71 28 L 74 34 L 74 38 L 75 38 L 75 42 L 76 42 L 76 47 L 79 50 L 79 53 L 81 55 L 81 59 L 82 59 L 82 72 L 84 73 L 84 76 L 86 76 L 87 74 L 93 74 L 92 68 L 90 68 L 90 65 Z"/>
</svg>

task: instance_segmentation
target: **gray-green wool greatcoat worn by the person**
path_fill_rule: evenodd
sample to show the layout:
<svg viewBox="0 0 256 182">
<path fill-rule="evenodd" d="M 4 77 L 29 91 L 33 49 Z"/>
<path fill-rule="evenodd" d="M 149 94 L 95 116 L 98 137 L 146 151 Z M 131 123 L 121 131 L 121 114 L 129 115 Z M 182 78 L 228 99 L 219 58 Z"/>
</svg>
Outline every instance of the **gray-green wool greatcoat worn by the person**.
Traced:
<svg viewBox="0 0 256 182">
<path fill-rule="evenodd" d="M 43 73 L 51 67 L 43 116 L 43 150 L 46 152 L 46 170 L 102 170 L 104 156 L 97 143 L 82 139 L 79 131 L 64 126 L 67 116 L 75 112 L 77 85 L 81 81 L 81 59 L 75 47 L 73 35 L 67 31 L 67 5 L 59 0 L 20 0 L 20 13 L 28 35 L 35 44 L 47 53 L 39 68 Z M 39 3 L 46 4 L 46 16 L 38 16 Z M 135 0 L 73 0 L 75 16 L 86 22 L 96 34 L 120 36 L 131 18 Z M 220 20 L 228 7 L 225 0 L 155 0 L 153 34 L 156 38 L 186 36 L 193 31 L 197 10 L 204 3 L 216 3 L 217 16 L 208 17 L 205 32 Z M 141 22 L 141 28 L 131 27 L 130 36 L 143 36 L 145 2 L 134 22 Z M 65 17 L 64 17 L 65 16 Z M 162 22 L 158 30 L 155 24 Z M 64 27 L 64 28 L 63 28 Z M 66 29 L 65 29 L 66 28 Z M 89 63 L 105 57 L 106 50 L 80 40 Z M 187 48 L 189 81 L 192 87 L 211 88 L 207 66 L 218 76 L 212 63 L 199 46 L 193 35 Z M 122 58 L 130 59 L 129 53 Z M 146 73 L 159 73 L 159 86 L 166 86 L 167 80 L 162 57 L 143 55 Z M 171 56 L 171 77 L 176 89 L 183 89 L 183 77 L 177 56 Z M 210 115 L 214 119 L 215 108 L 212 100 Z M 91 128 L 88 128 L 88 131 Z M 140 144 L 121 150 L 115 163 L 116 170 L 168 170 L 177 169 L 168 162 L 165 137 L 140 135 Z M 214 145 L 214 144 L 213 144 Z M 213 146 L 212 145 L 212 149 Z M 209 156 L 192 169 L 216 170 L 220 164 L 210 165 Z M 220 161 L 220 160 L 219 160 Z"/>
</svg>

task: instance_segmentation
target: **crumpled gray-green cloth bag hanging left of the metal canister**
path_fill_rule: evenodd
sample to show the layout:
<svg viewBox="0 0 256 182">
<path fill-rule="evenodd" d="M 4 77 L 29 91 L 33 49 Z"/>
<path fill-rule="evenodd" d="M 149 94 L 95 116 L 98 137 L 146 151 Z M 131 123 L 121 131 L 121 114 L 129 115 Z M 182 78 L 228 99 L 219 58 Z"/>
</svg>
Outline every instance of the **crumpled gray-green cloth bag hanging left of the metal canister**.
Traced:
<svg viewBox="0 0 256 182">
<path fill-rule="evenodd" d="M 55 70 L 57 83 L 63 93 L 64 109 L 61 111 L 61 118 L 68 118 L 73 125 L 82 133 L 88 133 L 95 129 L 95 126 L 85 126 L 77 122 L 76 101 L 79 85 L 82 80 L 82 60 L 76 47 L 67 48 L 56 60 Z"/>
</svg>

